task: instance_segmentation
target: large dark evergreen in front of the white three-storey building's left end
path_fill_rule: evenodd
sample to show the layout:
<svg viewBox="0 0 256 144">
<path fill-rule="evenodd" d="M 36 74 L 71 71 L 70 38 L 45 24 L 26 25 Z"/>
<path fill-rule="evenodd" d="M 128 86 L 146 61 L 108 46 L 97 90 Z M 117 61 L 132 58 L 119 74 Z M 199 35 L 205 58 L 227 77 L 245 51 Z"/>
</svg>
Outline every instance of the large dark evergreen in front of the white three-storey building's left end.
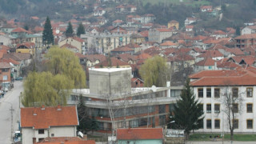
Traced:
<svg viewBox="0 0 256 144">
<path fill-rule="evenodd" d="M 171 118 L 175 121 L 174 128 L 185 130 L 186 138 L 188 138 L 190 130 L 198 130 L 202 126 L 202 115 L 202 106 L 195 98 L 188 78 L 182 90 L 181 99 L 174 106 Z"/>
</svg>

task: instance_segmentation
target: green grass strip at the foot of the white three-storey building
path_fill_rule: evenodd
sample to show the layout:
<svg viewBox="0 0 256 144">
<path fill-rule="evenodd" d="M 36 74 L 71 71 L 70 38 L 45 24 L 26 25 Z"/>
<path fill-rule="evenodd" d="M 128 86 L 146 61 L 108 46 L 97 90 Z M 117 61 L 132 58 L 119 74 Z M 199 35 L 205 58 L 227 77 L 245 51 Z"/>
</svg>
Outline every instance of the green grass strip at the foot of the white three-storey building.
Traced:
<svg viewBox="0 0 256 144">
<path fill-rule="evenodd" d="M 215 140 L 221 140 L 221 134 L 191 134 L 189 141 L 214 141 L 214 137 L 219 136 Z M 224 139 L 230 140 L 230 134 L 225 134 Z M 256 134 L 234 134 L 234 141 L 256 141 Z"/>
</svg>

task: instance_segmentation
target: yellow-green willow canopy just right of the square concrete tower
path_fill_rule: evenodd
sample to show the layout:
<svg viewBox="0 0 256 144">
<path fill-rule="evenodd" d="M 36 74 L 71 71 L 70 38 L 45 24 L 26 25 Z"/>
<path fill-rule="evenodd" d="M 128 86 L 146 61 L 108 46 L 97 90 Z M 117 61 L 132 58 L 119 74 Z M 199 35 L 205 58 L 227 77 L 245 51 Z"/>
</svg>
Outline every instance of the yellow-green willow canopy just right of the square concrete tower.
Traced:
<svg viewBox="0 0 256 144">
<path fill-rule="evenodd" d="M 144 86 L 166 86 L 169 78 L 166 59 L 160 56 L 154 56 L 147 59 L 139 70 L 139 74 L 144 80 Z"/>
</svg>

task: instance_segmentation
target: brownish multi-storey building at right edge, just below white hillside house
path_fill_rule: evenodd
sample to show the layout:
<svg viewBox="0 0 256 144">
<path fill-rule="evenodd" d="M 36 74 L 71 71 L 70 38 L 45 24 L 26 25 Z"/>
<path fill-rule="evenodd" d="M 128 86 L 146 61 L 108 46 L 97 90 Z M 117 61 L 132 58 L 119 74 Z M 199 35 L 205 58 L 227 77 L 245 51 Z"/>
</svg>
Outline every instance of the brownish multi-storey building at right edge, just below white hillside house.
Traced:
<svg viewBox="0 0 256 144">
<path fill-rule="evenodd" d="M 236 40 L 235 46 L 238 48 L 256 45 L 256 34 L 243 34 L 234 39 Z"/>
</svg>

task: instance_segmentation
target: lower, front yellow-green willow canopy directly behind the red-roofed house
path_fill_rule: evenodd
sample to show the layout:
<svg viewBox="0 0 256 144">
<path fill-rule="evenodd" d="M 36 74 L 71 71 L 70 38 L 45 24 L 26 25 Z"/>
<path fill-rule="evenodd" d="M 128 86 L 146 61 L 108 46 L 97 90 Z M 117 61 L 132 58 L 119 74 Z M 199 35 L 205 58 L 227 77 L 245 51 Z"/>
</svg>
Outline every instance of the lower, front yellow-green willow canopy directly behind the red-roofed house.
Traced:
<svg viewBox="0 0 256 144">
<path fill-rule="evenodd" d="M 66 105 L 73 82 L 65 75 L 31 72 L 24 82 L 23 106 Z"/>
</svg>

